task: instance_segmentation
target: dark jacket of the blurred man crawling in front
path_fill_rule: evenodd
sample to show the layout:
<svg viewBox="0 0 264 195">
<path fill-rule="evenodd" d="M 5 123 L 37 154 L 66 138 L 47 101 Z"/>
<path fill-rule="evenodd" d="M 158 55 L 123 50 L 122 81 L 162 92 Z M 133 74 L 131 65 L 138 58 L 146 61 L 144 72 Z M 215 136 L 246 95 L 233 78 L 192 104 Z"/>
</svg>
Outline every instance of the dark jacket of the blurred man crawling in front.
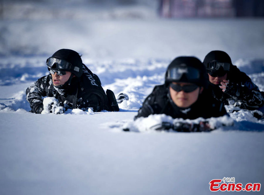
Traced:
<svg viewBox="0 0 264 195">
<path fill-rule="evenodd" d="M 205 90 L 189 108 L 177 107 L 170 98 L 168 87 L 164 84 L 155 86 L 152 93 L 143 102 L 135 119 L 153 114 L 166 114 L 172 118 L 196 119 L 219 117 L 227 113 L 222 102 L 207 95 Z"/>
</svg>

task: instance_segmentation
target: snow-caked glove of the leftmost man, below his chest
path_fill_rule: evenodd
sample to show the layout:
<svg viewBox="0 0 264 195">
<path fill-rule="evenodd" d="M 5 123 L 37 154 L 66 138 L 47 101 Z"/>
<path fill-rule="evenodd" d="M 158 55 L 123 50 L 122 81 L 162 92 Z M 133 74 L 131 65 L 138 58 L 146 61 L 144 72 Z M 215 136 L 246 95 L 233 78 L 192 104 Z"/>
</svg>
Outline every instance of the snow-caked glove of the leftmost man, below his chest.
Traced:
<svg viewBox="0 0 264 195">
<path fill-rule="evenodd" d="M 55 97 L 45 97 L 43 99 L 43 107 L 44 110 L 41 112 L 41 114 L 62 114 L 64 112 L 63 106 L 61 106 Z"/>
</svg>

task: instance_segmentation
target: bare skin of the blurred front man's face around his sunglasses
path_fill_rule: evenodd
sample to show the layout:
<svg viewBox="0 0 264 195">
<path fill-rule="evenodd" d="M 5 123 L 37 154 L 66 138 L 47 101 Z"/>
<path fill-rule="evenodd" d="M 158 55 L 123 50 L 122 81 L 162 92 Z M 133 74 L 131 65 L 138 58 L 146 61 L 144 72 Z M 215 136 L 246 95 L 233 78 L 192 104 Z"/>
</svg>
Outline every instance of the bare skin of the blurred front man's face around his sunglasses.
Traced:
<svg viewBox="0 0 264 195">
<path fill-rule="evenodd" d="M 175 85 L 185 86 L 185 85 L 192 85 L 191 83 L 176 83 L 172 82 Z M 203 87 L 198 87 L 192 92 L 186 93 L 183 90 L 180 92 L 177 92 L 173 90 L 171 87 L 170 89 L 170 97 L 172 101 L 181 108 L 187 108 L 191 106 L 194 102 L 197 101 L 198 96 L 200 93 L 202 93 Z"/>
</svg>

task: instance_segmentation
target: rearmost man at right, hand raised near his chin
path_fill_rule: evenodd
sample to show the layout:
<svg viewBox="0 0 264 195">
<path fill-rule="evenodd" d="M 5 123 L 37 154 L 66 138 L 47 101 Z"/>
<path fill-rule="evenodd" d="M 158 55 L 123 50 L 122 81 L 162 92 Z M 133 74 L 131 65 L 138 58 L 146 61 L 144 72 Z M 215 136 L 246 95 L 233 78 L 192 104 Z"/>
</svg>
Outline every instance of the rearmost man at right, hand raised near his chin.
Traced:
<svg viewBox="0 0 264 195">
<path fill-rule="evenodd" d="M 232 64 L 226 52 L 211 51 L 203 63 L 209 76 L 210 93 L 217 100 L 247 110 L 263 107 L 264 98 L 258 86 Z"/>
</svg>

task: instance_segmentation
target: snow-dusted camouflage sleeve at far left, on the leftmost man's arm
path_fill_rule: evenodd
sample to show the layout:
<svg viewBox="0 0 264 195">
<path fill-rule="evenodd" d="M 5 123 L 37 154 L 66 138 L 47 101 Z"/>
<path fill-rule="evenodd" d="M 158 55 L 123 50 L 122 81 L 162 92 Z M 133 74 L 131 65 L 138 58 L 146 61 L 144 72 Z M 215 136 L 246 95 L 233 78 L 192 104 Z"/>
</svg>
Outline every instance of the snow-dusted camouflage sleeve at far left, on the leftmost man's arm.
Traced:
<svg viewBox="0 0 264 195">
<path fill-rule="evenodd" d="M 40 114 L 43 110 L 42 97 L 46 96 L 44 88 L 46 77 L 38 79 L 33 85 L 26 89 L 26 100 L 29 102 L 32 109 L 31 112 L 33 113 Z"/>
</svg>

